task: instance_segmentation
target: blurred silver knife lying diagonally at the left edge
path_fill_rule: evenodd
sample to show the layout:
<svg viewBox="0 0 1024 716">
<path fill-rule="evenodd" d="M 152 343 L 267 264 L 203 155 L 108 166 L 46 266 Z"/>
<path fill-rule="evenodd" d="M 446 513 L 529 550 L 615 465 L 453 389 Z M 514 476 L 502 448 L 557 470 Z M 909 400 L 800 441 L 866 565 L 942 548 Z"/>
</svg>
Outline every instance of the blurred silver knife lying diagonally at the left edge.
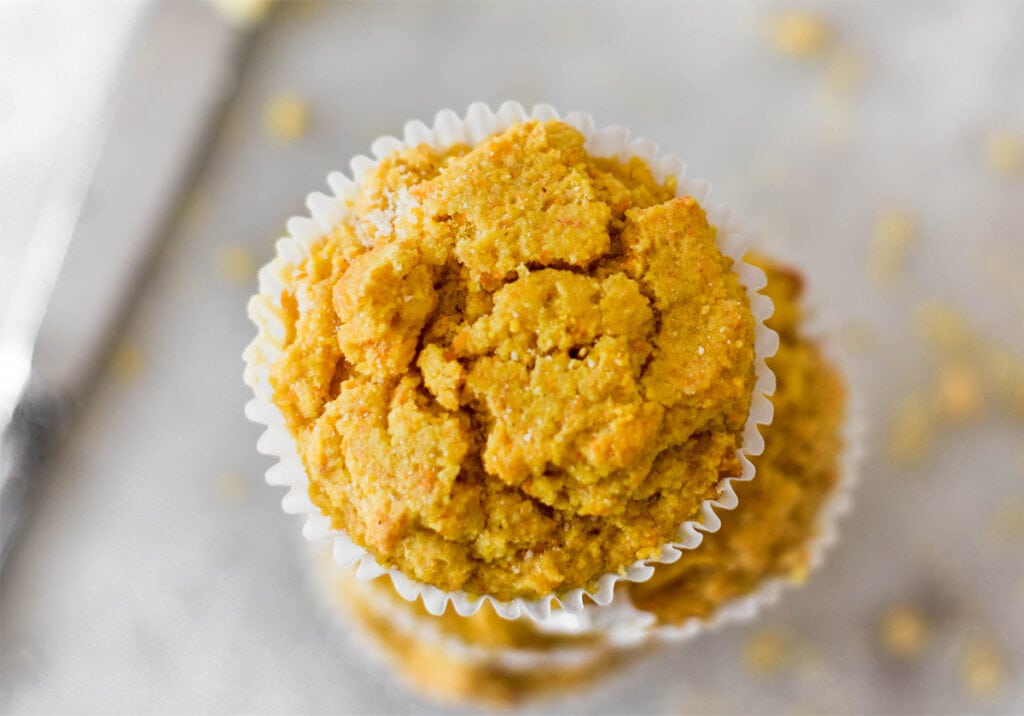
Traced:
<svg viewBox="0 0 1024 716">
<path fill-rule="evenodd" d="M 91 172 L 57 172 L 10 271 L 0 313 L 0 568 L 233 93 L 254 26 L 232 19 L 210 3 L 152 4 L 102 131 L 76 137 Z M 101 148 L 92 161 L 90 145 Z"/>
</svg>

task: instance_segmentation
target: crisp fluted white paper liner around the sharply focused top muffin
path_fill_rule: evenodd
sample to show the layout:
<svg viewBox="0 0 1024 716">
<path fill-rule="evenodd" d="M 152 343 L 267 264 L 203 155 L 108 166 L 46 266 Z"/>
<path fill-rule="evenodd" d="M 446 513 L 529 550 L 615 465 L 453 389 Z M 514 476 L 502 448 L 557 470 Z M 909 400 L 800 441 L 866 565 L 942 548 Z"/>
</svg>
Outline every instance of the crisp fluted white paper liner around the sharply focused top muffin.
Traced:
<svg viewBox="0 0 1024 716">
<path fill-rule="evenodd" d="M 585 149 L 591 156 L 617 157 L 621 160 L 631 157 L 643 159 L 649 164 L 658 181 L 674 175 L 677 178 L 677 196 L 693 197 L 703 207 L 709 222 L 718 229 L 719 250 L 733 259 L 733 268 L 746 289 L 751 311 L 756 321 L 757 381 L 742 432 L 742 447 L 737 451 L 742 465 L 740 476 L 721 480 L 717 499 L 706 500 L 700 504 L 698 516 L 680 525 L 676 542 L 664 545 L 656 557 L 637 560 L 618 574 L 603 575 L 597 580 L 597 586 L 593 590 L 578 588 L 540 599 L 517 598 L 502 601 L 489 595 L 474 596 L 463 591 L 445 592 L 432 585 L 412 580 L 397 570 L 384 568 L 372 554 L 352 543 L 344 533 L 332 530 L 330 519 L 309 500 L 305 469 L 296 452 L 293 438 L 285 427 L 284 418 L 271 402 L 269 371 L 281 355 L 285 337 L 284 323 L 280 318 L 281 293 L 285 288 L 283 271 L 309 256 L 310 247 L 314 242 L 343 219 L 358 183 L 368 171 L 382 158 L 403 146 L 412 148 L 427 143 L 436 149 L 445 149 L 461 142 L 477 144 L 495 132 L 529 119 L 542 121 L 561 119 L 575 127 L 586 138 Z M 493 112 L 483 102 L 475 102 L 470 106 L 465 118 L 460 118 L 452 110 L 442 110 L 437 113 L 432 127 L 418 120 L 408 122 L 402 139 L 382 136 L 373 142 L 371 151 L 376 159 L 359 155 L 351 160 L 351 178 L 341 172 L 332 172 L 328 176 L 328 184 L 334 192 L 333 197 L 321 193 L 309 195 L 306 206 L 310 211 L 310 217 L 297 216 L 289 219 L 287 227 L 290 236 L 279 240 L 275 244 L 276 256 L 260 269 L 259 293 L 249 301 L 249 315 L 256 324 L 258 334 L 244 353 L 245 380 L 255 393 L 255 397 L 246 405 L 246 416 L 266 427 L 257 441 L 257 450 L 279 459 L 278 464 L 267 470 L 266 481 L 290 488 L 282 500 L 282 507 L 288 513 L 306 516 L 303 525 L 306 539 L 318 540 L 333 536 L 334 557 L 338 564 L 342 566 L 356 564 L 356 576 L 367 581 L 387 574 L 399 594 L 410 601 L 423 599 L 425 607 L 431 614 L 442 614 L 451 602 L 458 614 L 466 616 L 474 614 L 483 603 L 489 602 L 495 610 L 506 619 L 527 615 L 538 621 L 548 619 L 556 607 L 569 614 L 582 612 L 585 596 L 595 604 L 606 605 L 612 600 L 617 582 L 623 580 L 643 582 L 650 579 L 653 574 L 652 564 L 676 561 L 681 555 L 680 550 L 693 549 L 700 544 L 705 533 L 716 532 L 721 527 L 721 520 L 715 510 L 728 510 L 736 506 L 737 498 L 731 482 L 745 481 L 754 477 L 754 465 L 748 456 L 760 455 L 764 449 L 764 439 L 761 437 L 758 425 L 767 425 L 771 422 L 772 406 L 767 396 L 775 388 L 775 376 L 765 365 L 765 360 L 774 355 L 778 347 L 778 336 L 764 325 L 772 312 L 771 301 L 759 293 L 766 283 L 764 271 L 742 260 L 749 248 L 749 240 L 734 220 L 731 211 L 721 205 L 707 204 L 709 184 L 705 181 L 686 179 L 683 162 L 671 155 L 656 157 L 657 145 L 649 139 L 641 137 L 631 140 L 629 131 L 624 127 L 597 128 L 594 119 L 584 113 L 573 112 L 561 117 L 554 108 L 547 104 L 537 104 L 527 113 L 521 104 L 513 101 L 504 102 L 497 112 Z"/>
</svg>

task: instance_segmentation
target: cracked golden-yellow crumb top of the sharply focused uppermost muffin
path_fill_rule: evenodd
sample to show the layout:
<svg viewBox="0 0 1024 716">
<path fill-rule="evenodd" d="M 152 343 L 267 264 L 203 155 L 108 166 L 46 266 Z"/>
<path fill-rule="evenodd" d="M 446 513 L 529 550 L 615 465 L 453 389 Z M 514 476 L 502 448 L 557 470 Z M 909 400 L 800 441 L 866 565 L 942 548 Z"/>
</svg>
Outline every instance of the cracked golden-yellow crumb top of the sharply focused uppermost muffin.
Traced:
<svg viewBox="0 0 1024 716">
<path fill-rule="evenodd" d="M 385 157 L 285 277 L 270 384 L 310 499 L 501 600 L 656 555 L 741 469 L 755 319 L 715 237 L 557 121 Z"/>
</svg>

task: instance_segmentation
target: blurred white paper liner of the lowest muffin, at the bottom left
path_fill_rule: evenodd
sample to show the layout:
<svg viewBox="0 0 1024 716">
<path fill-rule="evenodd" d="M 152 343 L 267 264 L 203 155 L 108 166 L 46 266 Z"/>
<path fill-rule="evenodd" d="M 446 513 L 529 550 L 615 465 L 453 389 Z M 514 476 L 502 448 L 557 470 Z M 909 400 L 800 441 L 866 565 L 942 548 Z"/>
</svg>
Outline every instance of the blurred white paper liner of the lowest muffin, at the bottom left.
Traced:
<svg viewBox="0 0 1024 716">
<path fill-rule="evenodd" d="M 466 665 L 490 666 L 511 673 L 538 673 L 580 669 L 601 661 L 609 654 L 610 645 L 603 640 L 545 649 L 484 646 L 466 641 L 445 633 L 432 617 L 424 618 L 390 599 L 378 598 L 371 592 L 369 584 L 359 582 L 351 573 L 342 573 L 345 567 L 334 562 L 329 549 L 325 553 L 324 544 L 321 542 L 309 550 L 310 580 L 324 608 L 345 633 L 369 630 L 358 623 L 355 612 L 345 603 L 353 598 L 348 589 L 354 589 L 361 590 L 354 598 L 359 599 L 361 605 L 375 617 L 386 622 L 396 635 L 442 650 Z M 339 589 L 339 580 L 352 580 L 353 584 L 343 592 Z"/>
</svg>

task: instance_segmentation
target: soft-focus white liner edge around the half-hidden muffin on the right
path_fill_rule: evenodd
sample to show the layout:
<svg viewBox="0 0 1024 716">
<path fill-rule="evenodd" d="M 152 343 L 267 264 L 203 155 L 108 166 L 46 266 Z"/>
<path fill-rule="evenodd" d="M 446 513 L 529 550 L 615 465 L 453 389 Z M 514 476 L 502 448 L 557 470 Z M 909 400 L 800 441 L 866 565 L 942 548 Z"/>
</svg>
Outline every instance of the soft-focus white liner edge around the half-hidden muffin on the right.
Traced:
<svg viewBox="0 0 1024 716">
<path fill-rule="evenodd" d="M 758 244 L 760 248 L 760 242 Z M 774 255 L 770 258 L 798 265 L 795 260 Z M 811 574 L 821 566 L 827 552 L 839 541 L 840 519 L 853 507 L 853 490 L 859 479 L 860 461 L 864 454 L 866 422 L 856 373 L 852 370 L 848 353 L 840 345 L 838 322 L 834 315 L 818 307 L 824 303 L 815 299 L 813 282 L 805 277 L 804 283 L 801 302 L 805 306 L 806 318 L 801 331 L 814 341 L 846 383 L 846 415 L 840 428 L 843 448 L 839 457 L 839 477 L 831 494 L 818 510 L 817 529 L 808 544 L 807 572 Z M 588 605 L 577 614 L 552 615 L 550 619 L 538 622 L 537 626 L 550 634 L 601 634 L 609 643 L 624 647 L 651 641 L 678 642 L 706 630 L 750 622 L 762 609 L 776 603 L 786 590 L 797 586 L 787 577 L 771 577 L 754 591 L 726 601 L 711 617 L 693 617 L 679 625 L 659 625 L 653 614 L 638 609 L 629 598 L 620 598 L 607 606 Z"/>
</svg>

